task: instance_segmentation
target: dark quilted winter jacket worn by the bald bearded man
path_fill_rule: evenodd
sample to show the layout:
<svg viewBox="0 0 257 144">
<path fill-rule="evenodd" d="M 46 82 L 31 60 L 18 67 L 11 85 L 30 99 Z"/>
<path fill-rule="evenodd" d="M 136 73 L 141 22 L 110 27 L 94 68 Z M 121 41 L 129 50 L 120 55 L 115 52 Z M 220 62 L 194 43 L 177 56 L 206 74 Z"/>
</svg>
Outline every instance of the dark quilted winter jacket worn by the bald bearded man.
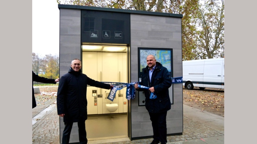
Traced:
<svg viewBox="0 0 257 144">
<path fill-rule="evenodd" d="M 170 96 L 169 87 L 172 85 L 172 79 L 167 68 L 161 63 L 156 62 L 156 67 L 152 73 L 150 83 L 149 67 L 142 69 L 141 82 L 139 85 L 146 87 L 154 87 L 154 93 L 157 95 L 156 99 L 150 99 L 150 91 L 148 89 L 137 89 L 137 91 L 144 91 L 145 107 L 149 113 L 158 113 L 170 110 Z"/>
</svg>

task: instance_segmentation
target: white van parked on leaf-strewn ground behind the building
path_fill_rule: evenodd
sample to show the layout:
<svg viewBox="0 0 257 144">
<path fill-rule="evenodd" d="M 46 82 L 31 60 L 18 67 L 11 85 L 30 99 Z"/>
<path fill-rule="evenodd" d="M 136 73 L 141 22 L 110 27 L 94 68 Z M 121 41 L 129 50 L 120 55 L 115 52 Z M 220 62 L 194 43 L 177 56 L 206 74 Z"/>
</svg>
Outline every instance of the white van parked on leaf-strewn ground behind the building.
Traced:
<svg viewBox="0 0 257 144">
<path fill-rule="evenodd" d="M 183 86 L 224 89 L 224 58 L 183 61 Z"/>
</svg>

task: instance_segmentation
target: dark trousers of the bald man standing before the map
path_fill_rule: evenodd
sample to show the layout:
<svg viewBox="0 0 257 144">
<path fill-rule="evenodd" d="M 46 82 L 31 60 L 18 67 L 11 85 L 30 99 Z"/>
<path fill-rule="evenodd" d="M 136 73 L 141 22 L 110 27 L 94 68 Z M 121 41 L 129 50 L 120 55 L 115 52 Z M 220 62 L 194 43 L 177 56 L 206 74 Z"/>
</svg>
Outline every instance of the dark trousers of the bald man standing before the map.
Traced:
<svg viewBox="0 0 257 144">
<path fill-rule="evenodd" d="M 162 113 L 149 113 L 153 127 L 153 138 L 161 143 L 167 143 L 167 111 Z"/>
</svg>

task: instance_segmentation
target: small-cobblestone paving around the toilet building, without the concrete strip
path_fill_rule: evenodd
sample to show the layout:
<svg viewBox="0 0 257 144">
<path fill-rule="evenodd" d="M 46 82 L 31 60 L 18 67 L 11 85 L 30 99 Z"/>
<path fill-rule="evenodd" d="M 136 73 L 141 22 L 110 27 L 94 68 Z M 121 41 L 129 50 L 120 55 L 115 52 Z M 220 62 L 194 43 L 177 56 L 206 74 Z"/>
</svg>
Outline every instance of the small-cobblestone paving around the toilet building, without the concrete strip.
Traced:
<svg viewBox="0 0 257 144">
<path fill-rule="evenodd" d="M 57 106 L 48 111 L 43 118 L 32 126 L 33 144 L 59 144 L 60 143 L 59 116 L 57 115 Z M 168 143 L 224 136 L 224 130 L 216 130 L 206 124 L 183 115 L 183 135 L 167 136 Z M 152 138 L 132 140 L 124 142 L 112 142 L 106 144 L 148 144 Z"/>
</svg>

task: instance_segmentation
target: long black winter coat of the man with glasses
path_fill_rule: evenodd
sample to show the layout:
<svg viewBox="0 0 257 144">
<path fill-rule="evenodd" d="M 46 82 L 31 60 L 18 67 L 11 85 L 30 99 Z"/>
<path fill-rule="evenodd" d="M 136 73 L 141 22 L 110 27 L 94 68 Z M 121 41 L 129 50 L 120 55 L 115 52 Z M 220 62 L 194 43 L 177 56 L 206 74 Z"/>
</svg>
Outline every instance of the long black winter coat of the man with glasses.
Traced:
<svg viewBox="0 0 257 144">
<path fill-rule="evenodd" d="M 59 81 L 57 113 L 64 114 L 64 122 L 87 120 L 87 85 L 110 89 L 110 84 L 95 81 L 72 68 Z"/>
</svg>

